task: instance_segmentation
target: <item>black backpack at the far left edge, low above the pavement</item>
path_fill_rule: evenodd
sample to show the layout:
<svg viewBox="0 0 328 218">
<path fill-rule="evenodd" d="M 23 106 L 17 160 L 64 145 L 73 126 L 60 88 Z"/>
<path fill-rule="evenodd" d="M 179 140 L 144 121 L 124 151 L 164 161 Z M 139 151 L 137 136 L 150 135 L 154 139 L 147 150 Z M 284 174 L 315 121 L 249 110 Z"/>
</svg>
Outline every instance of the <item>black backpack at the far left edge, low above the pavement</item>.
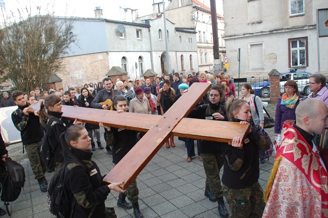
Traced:
<svg viewBox="0 0 328 218">
<path fill-rule="evenodd" d="M 5 166 L 6 176 L 3 183 L 1 200 L 5 202 L 7 212 L 10 215 L 8 202 L 15 201 L 19 197 L 25 183 L 25 171 L 20 163 L 12 160 L 10 157 L 6 158 Z"/>
</svg>

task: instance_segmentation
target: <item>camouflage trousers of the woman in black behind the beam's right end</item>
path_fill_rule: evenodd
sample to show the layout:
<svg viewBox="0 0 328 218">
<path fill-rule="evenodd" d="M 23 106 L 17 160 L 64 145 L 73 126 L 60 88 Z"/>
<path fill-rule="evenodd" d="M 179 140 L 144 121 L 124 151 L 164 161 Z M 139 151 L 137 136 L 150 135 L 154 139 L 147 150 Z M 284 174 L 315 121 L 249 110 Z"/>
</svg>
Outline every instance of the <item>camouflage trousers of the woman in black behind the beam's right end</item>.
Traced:
<svg viewBox="0 0 328 218">
<path fill-rule="evenodd" d="M 222 153 L 200 153 L 203 158 L 203 166 L 206 174 L 205 185 L 209 186 L 214 197 L 223 197 L 223 189 L 220 179 L 220 170 L 223 166 Z"/>
</svg>

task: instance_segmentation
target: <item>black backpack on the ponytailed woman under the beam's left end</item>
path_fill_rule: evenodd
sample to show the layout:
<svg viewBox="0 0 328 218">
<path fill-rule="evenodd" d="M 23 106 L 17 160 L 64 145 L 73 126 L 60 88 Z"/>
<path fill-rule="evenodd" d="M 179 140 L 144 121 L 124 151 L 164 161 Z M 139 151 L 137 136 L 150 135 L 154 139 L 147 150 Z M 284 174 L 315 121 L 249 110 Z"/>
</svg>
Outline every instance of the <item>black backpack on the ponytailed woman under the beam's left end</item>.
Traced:
<svg viewBox="0 0 328 218">
<path fill-rule="evenodd" d="M 47 120 L 47 125 L 45 127 L 45 134 L 41 140 L 41 156 L 42 160 L 48 169 L 54 169 L 56 166 L 56 159 L 53 154 L 51 154 L 51 147 L 47 137 L 47 133 L 50 131 L 50 127 L 53 121 L 58 120 L 58 118 L 51 117 Z"/>
</svg>

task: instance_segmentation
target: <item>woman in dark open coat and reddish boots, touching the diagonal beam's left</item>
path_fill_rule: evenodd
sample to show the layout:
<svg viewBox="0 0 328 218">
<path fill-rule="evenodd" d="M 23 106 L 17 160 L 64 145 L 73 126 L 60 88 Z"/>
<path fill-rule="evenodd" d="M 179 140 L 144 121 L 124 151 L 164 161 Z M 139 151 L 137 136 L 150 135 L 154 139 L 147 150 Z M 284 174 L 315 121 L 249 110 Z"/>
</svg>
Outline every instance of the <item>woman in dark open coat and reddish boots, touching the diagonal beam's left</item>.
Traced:
<svg viewBox="0 0 328 218">
<path fill-rule="evenodd" d="M 158 95 L 157 95 L 157 111 L 158 114 L 163 115 L 165 114 L 170 107 L 173 105 L 174 101 L 176 99 L 176 93 L 173 88 L 171 88 L 171 83 L 169 80 L 164 80 L 162 88 L 159 89 Z M 171 146 L 175 147 L 174 144 L 174 136 L 171 135 Z M 166 147 L 170 148 L 169 140 L 166 142 Z"/>
</svg>

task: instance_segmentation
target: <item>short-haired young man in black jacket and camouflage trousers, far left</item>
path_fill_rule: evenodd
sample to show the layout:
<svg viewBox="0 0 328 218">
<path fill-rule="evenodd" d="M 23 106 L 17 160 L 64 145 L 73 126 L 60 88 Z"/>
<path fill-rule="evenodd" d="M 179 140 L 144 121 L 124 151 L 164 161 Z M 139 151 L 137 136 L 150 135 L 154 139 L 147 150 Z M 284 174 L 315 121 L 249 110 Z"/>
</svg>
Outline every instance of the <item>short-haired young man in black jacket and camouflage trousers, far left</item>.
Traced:
<svg viewBox="0 0 328 218">
<path fill-rule="evenodd" d="M 18 109 L 13 112 L 12 120 L 16 129 L 21 132 L 22 143 L 30 160 L 35 179 L 38 181 L 41 192 L 47 191 L 48 182 L 44 177 L 45 163 L 41 159 L 41 139 L 44 135 L 37 111 L 28 113 L 28 103 L 23 92 L 14 91 L 13 99 Z M 24 152 L 24 148 L 23 148 Z"/>
</svg>

